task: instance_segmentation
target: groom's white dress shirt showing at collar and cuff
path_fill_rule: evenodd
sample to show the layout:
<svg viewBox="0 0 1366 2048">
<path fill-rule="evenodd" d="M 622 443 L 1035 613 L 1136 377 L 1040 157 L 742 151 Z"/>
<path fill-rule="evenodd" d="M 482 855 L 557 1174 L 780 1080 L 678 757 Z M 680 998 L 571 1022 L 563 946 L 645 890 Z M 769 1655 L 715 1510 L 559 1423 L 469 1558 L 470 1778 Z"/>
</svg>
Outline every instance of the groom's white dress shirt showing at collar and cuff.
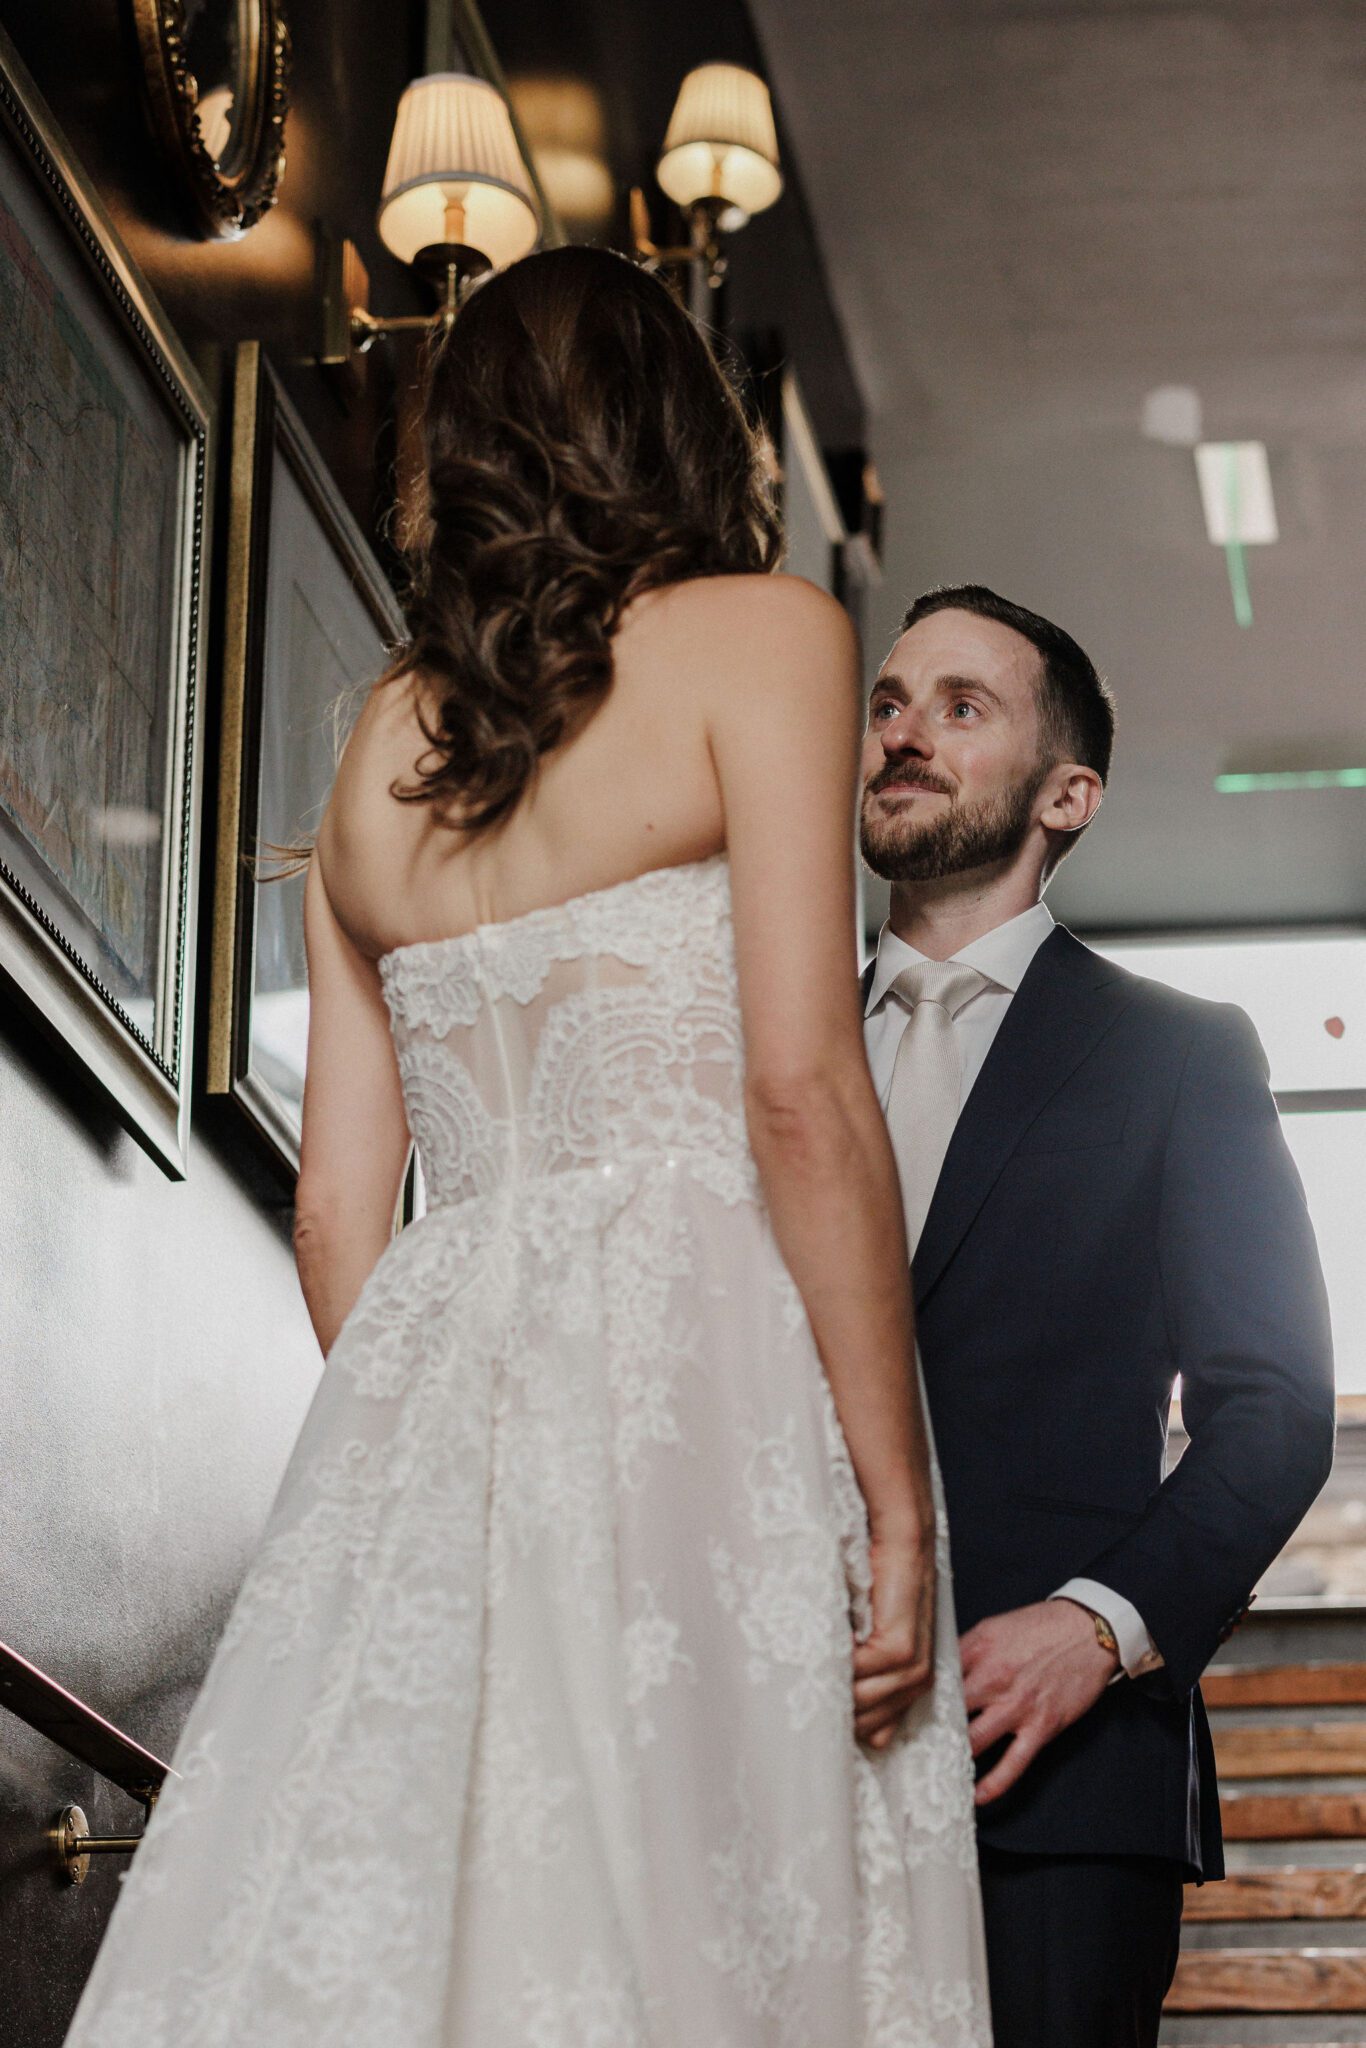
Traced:
<svg viewBox="0 0 1366 2048">
<path fill-rule="evenodd" d="M 987 975 L 989 979 L 989 987 L 979 989 L 952 1022 L 963 1057 L 958 1112 L 963 1112 L 963 1104 L 973 1092 L 973 1083 L 991 1051 L 991 1040 L 1001 1028 L 1001 1020 L 1028 973 L 1030 961 L 1051 932 L 1053 911 L 1047 903 L 1034 903 L 1032 909 L 1012 918 L 1010 924 L 999 924 L 995 932 L 975 938 L 971 946 L 963 946 L 961 952 L 952 954 L 956 965 L 975 967 L 979 975 Z M 883 926 L 868 1001 L 864 1004 L 864 1044 L 868 1049 L 872 1085 L 883 1108 L 887 1108 L 887 1096 L 891 1094 L 891 1071 L 897 1065 L 901 1032 L 909 1022 L 905 1004 L 895 997 L 889 1001 L 887 991 L 903 967 L 911 967 L 924 958 L 926 954 L 915 952 L 903 938 L 897 938 L 891 926 Z M 1098 1585 L 1096 1579 L 1069 1579 L 1067 1585 L 1059 1585 L 1057 1593 L 1049 1597 L 1075 1599 L 1079 1606 L 1090 1608 L 1092 1614 L 1104 1616 L 1120 1647 L 1120 1665 L 1130 1677 L 1139 1677 L 1141 1671 L 1153 1671 L 1161 1663 L 1143 1616 L 1122 1593 L 1112 1591 L 1108 1585 Z"/>
</svg>

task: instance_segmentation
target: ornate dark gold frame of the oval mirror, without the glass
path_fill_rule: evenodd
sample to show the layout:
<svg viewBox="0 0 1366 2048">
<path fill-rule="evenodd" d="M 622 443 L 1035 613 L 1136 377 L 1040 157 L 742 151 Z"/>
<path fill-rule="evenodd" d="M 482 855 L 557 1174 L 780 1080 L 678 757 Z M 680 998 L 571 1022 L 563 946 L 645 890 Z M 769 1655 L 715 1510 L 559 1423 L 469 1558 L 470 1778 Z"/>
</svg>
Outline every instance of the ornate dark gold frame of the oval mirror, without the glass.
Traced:
<svg viewBox="0 0 1366 2048">
<path fill-rule="evenodd" d="M 184 0 L 131 0 L 152 129 L 203 236 L 236 240 L 274 205 L 285 170 L 289 25 L 281 0 L 221 0 L 238 12 L 242 121 L 229 170 L 205 147 Z M 238 94 L 233 96 L 238 98 Z"/>
</svg>

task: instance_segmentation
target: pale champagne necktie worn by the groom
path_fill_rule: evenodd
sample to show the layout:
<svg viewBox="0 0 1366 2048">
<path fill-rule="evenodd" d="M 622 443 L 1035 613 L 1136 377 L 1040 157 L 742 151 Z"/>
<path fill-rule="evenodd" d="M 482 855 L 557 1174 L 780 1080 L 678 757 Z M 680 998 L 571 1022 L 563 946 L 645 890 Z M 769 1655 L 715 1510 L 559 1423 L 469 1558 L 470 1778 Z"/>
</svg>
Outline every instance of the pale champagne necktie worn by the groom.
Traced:
<svg viewBox="0 0 1366 2048">
<path fill-rule="evenodd" d="M 954 1034 L 954 1018 L 965 1004 L 971 1004 L 973 995 L 989 987 L 989 977 L 979 975 L 975 967 L 958 967 L 952 961 L 915 961 L 901 969 L 887 991 L 889 1001 L 899 1001 L 911 1012 L 901 1032 L 887 1096 L 887 1128 L 901 1176 L 905 1239 L 911 1257 L 930 1214 L 948 1141 L 958 1122 L 963 1053 Z"/>
</svg>

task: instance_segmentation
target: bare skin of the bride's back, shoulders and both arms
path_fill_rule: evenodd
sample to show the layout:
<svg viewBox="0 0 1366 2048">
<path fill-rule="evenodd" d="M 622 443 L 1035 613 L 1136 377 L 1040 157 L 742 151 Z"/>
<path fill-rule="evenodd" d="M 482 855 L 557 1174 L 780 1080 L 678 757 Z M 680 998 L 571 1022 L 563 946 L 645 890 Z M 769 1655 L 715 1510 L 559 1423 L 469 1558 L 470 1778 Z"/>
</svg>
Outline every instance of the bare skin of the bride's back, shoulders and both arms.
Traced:
<svg viewBox="0 0 1366 2048">
<path fill-rule="evenodd" d="M 811 584 L 725 575 L 641 598 L 612 688 L 485 836 L 399 803 L 424 754 L 420 680 L 350 739 L 309 872 L 309 1063 L 295 1206 L 324 1350 L 391 1231 L 408 1122 L 377 958 L 649 868 L 729 854 L 750 1143 L 877 1534 L 858 1731 L 891 1741 L 932 1675 L 928 1450 L 891 1145 L 854 975 L 858 662 Z M 930 1546 L 930 1550 L 926 1548 Z"/>
</svg>

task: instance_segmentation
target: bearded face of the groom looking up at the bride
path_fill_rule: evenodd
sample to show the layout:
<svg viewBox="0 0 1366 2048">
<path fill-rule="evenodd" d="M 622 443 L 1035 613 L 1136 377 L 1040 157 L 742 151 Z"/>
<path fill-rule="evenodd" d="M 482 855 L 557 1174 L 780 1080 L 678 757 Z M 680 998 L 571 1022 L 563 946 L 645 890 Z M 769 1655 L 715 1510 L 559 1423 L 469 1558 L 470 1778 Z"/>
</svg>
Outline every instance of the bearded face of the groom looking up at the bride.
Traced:
<svg viewBox="0 0 1366 2048">
<path fill-rule="evenodd" d="M 1038 651 L 973 612 L 930 612 L 872 686 L 862 750 L 862 854 L 887 881 L 1012 860 L 1034 827 Z"/>
</svg>

